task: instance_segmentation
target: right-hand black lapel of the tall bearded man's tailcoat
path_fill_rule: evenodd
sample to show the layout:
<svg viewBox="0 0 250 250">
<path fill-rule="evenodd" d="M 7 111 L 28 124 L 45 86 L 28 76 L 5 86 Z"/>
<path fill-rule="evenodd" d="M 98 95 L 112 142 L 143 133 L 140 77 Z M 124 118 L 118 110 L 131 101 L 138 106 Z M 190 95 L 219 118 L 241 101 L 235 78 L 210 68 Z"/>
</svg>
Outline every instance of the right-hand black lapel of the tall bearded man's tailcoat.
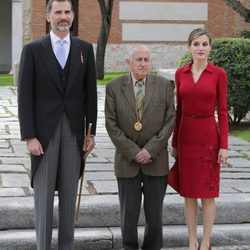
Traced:
<svg viewBox="0 0 250 250">
<path fill-rule="evenodd" d="M 69 78 L 68 78 L 66 92 L 68 92 L 68 90 L 70 89 L 70 86 L 72 86 L 72 84 L 74 83 L 79 67 L 81 67 L 80 45 L 73 36 L 70 36 L 70 38 L 71 38 L 71 45 L 70 45 L 70 54 L 68 58 L 69 63 L 70 63 L 69 74 L 68 74 Z"/>
</svg>

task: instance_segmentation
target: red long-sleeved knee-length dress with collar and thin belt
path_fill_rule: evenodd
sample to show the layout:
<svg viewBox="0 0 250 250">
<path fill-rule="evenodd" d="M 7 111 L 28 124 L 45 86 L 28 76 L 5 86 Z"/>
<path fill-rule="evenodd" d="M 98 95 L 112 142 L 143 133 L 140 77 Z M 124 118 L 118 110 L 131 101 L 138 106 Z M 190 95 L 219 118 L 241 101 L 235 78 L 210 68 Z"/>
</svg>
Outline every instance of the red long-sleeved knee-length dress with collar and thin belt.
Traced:
<svg viewBox="0 0 250 250">
<path fill-rule="evenodd" d="M 194 83 L 191 65 L 175 74 L 177 120 L 172 146 L 178 148 L 180 195 L 218 197 L 218 151 L 228 146 L 227 76 L 224 69 L 208 63 Z"/>
</svg>

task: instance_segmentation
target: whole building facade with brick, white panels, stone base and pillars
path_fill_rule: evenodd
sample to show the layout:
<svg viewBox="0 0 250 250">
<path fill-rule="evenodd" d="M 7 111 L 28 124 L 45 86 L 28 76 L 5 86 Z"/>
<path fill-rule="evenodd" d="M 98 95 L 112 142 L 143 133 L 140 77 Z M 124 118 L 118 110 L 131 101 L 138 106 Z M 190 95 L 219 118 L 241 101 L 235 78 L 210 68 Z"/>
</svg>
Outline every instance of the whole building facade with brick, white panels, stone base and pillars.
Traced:
<svg viewBox="0 0 250 250">
<path fill-rule="evenodd" d="M 241 2 L 250 8 L 249 0 Z M 48 32 L 46 3 L 0 1 L 0 71 L 13 67 L 25 43 Z M 101 27 L 98 1 L 73 0 L 73 4 L 72 33 L 96 46 Z M 114 0 L 105 70 L 125 71 L 124 57 L 135 43 L 151 48 L 154 68 L 176 67 L 186 52 L 188 34 L 197 27 L 207 28 L 213 38 L 237 37 L 243 30 L 250 30 L 250 24 L 223 0 Z"/>
</svg>

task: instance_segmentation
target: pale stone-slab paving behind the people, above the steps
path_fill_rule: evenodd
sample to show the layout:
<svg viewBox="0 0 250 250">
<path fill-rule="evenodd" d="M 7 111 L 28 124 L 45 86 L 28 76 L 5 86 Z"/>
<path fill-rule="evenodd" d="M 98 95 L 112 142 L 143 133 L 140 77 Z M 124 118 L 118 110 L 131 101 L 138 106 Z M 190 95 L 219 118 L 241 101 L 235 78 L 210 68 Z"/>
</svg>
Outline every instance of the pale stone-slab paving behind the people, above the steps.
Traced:
<svg viewBox="0 0 250 250">
<path fill-rule="evenodd" d="M 0 198 L 33 196 L 29 155 L 20 141 L 16 99 L 15 87 L 0 87 Z M 98 87 L 98 107 L 96 148 L 87 160 L 84 196 L 117 194 L 113 174 L 114 146 L 104 124 L 104 87 Z M 232 196 L 242 193 L 250 197 L 250 144 L 232 136 L 229 143 L 230 158 L 228 167 L 222 169 L 221 193 Z M 174 191 L 169 188 L 168 193 Z M 246 250 L 250 246 L 215 249 Z"/>
</svg>

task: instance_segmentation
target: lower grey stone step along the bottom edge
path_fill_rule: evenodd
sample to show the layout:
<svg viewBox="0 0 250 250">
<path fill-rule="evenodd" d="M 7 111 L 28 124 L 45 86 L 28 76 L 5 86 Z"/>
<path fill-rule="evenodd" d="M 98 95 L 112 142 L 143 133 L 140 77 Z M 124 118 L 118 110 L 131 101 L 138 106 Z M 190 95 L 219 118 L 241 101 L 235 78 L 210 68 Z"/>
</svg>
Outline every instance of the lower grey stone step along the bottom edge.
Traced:
<svg viewBox="0 0 250 250">
<path fill-rule="evenodd" d="M 138 228 L 140 244 L 143 238 L 143 227 Z M 184 225 L 164 226 L 164 248 L 187 247 L 187 229 Z M 198 227 L 198 238 L 201 239 L 202 228 Z M 212 234 L 212 246 L 245 245 L 250 249 L 250 224 L 215 225 Z M 35 250 L 36 238 L 34 229 L 0 231 L 1 250 Z M 57 230 L 53 230 L 52 249 L 57 249 Z M 111 250 L 121 249 L 119 227 L 76 228 L 75 249 Z M 238 248 L 235 248 L 238 249 Z M 247 249 L 247 248 L 243 248 Z"/>
</svg>

